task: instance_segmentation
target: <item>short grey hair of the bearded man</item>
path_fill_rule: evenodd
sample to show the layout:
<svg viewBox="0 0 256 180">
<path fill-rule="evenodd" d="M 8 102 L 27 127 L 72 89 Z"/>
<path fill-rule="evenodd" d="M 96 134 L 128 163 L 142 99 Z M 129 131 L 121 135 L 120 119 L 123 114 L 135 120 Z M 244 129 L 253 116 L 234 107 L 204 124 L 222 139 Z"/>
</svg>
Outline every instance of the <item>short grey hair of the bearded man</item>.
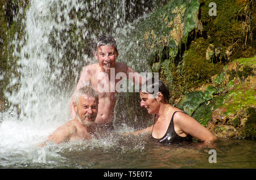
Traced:
<svg viewBox="0 0 256 180">
<path fill-rule="evenodd" d="M 79 104 L 79 98 L 82 95 L 88 96 L 88 98 L 89 97 L 95 98 L 95 100 L 98 102 L 98 93 L 93 88 L 86 85 L 86 86 L 80 88 L 79 90 L 77 90 L 77 92 L 76 92 L 75 103 L 77 106 Z"/>
</svg>

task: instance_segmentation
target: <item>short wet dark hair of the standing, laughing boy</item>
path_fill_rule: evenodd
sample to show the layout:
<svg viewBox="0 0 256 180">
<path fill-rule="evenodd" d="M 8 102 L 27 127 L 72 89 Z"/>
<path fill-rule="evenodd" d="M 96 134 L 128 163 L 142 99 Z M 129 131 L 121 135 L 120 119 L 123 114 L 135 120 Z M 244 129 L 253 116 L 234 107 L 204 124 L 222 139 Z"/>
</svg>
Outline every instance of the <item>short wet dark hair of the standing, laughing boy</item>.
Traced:
<svg viewBox="0 0 256 180">
<path fill-rule="evenodd" d="M 100 46 L 114 46 L 115 53 L 117 53 L 117 42 L 114 37 L 110 35 L 100 35 L 98 36 L 96 43 L 94 44 L 94 53 L 97 53 L 97 49 Z"/>
</svg>

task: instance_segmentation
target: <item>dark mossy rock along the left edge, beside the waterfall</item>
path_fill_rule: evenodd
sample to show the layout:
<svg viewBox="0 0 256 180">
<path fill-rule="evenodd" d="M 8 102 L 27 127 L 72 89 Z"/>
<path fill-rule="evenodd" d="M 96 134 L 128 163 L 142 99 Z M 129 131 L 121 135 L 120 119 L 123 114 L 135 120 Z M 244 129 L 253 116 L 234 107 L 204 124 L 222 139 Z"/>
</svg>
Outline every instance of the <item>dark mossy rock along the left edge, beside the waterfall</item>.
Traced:
<svg viewBox="0 0 256 180">
<path fill-rule="evenodd" d="M 0 101 L 3 102 L 3 109 L 7 108 L 4 92 L 6 89 L 11 91 L 8 89 L 10 78 L 12 75 L 19 76 L 16 57 L 13 57 L 14 45 L 11 42 L 14 37 L 22 39 L 24 24 L 23 21 L 15 20 L 15 17 L 24 18 L 28 4 L 28 0 L 3 0 L 0 2 Z M 18 86 L 14 88 L 18 88 Z"/>
</svg>

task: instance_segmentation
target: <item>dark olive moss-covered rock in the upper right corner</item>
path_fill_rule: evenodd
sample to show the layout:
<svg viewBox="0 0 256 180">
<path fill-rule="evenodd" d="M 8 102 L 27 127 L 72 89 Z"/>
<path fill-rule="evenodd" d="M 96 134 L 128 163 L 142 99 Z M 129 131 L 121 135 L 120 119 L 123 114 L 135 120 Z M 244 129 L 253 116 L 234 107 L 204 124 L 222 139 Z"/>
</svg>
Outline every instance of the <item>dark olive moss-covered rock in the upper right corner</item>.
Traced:
<svg viewBox="0 0 256 180">
<path fill-rule="evenodd" d="M 209 15 L 210 2 L 212 1 L 200 1 L 199 20 L 203 24 L 203 31 L 191 33 L 189 37 L 191 43 L 185 46 L 184 52 L 180 52 L 183 57 L 176 58 L 178 62 L 175 66 L 171 65 L 172 76 L 175 79 L 172 81 L 174 92 L 182 91 L 182 94 L 202 84 L 210 83 L 210 76 L 218 74 L 226 63 L 233 59 L 255 55 L 253 30 L 245 29 L 245 25 L 250 28 L 255 27 L 255 23 L 252 23 L 255 21 L 254 15 L 250 13 L 254 12 L 253 2 L 249 0 L 214 1 L 217 6 L 217 16 Z M 247 38 L 249 36 L 250 38 Z M 249 70 L 250 68 L 247 67 L 244 71 Z M 246 75 L 237 72 L 237 76 L 241 78 Z M 225 76 L 226 72 L 216 76 L 213 79 L 214 85 L 224 82 Z M 229 85 L 230 88 L 234 87 L 232 83 Z M 225 92 L 225 89 L 219 90 Z M 180 93 L 176 98 L 179 96 Z"/>
</svg>

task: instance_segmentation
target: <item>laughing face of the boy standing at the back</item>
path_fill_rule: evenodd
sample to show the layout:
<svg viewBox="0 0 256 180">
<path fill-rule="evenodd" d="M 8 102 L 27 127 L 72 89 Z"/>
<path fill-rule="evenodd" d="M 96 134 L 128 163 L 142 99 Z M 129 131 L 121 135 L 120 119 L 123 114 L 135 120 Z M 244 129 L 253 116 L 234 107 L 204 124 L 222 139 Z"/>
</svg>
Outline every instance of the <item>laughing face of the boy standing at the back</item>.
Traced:
<svg viewBox="0 0 256 180">
<path fill-rule="evenodd" d="M 94 55 L 103 72 L 110 71 L 110 68 L 115 67 L 115 58 L 118 57 L 118 52 L 115 52 L 114 46 L 99 46 Z"/>
</svg>

